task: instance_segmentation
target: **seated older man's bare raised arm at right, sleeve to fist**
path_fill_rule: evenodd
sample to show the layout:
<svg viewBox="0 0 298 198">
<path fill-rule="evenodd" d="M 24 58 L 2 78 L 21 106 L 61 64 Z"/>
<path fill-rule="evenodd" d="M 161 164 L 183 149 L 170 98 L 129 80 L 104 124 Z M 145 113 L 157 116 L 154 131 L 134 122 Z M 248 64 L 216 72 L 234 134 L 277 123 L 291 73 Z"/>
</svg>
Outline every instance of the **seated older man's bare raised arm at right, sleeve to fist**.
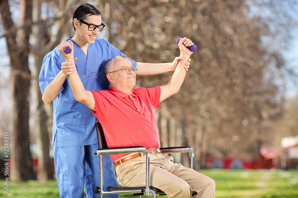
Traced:
<svg viewBox="0 0 298 198">
<path fill-rule="evenodd" d="M 177 94 L 183 83 L 185 73 L 186 73 L 184 66 L 185 66 L 185 63 L 190 58 L 190 55 L 193 53 L 187 47 L 185 47 L 183 43 L 187 44 L 187 46 L 193 45 L 193 42 L 189 39 L 186 39 L 186 38 L 180 39 L 178 44 L 180 49 L 180 57 L 184 59 L 178 62 L 176 70 L 173 76 L 171 77 L 171 79 L 169 80 L 169 82 L 166 85 L 160 87 L 161 89 L 160 102 L 162 102 L 164 99 L 167 99 L 170 96 L 173 96 L 174 94 Z"/>
</svg>

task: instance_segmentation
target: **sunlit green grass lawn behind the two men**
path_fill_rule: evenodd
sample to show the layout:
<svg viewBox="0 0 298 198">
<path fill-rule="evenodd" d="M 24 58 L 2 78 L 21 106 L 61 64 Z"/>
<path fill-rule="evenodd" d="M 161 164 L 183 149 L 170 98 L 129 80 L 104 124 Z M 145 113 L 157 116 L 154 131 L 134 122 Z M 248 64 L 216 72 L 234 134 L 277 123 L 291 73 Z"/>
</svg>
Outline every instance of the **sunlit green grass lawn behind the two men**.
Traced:
<svg viewBox="0 0 298 198">
<path fill-rule="evenodd" d="M 216 184 L 215 197 L 262 197 L 262 198 L 297 198 L 297 170 L 201 170 L 201 173 L 214 179 Z M 53 198 L 59 197 L 56 180 L 40 182 L 9 182 L 9 194 L 5 193 L 4 180 L 0 180 L 0 197 L 15 198 Z M 3 186 L 3 187 L 2 187 Z M 86 197 L 86 196 L 85 196 Z M 133 197 L 132 195 L 120 195 Z M 145 198 L 146 196 L 144 196 Z M 153 196 L 151 196 L 153 197 Z M 159 196 L 166 198 L 166 196 Z M 134 197 L 136 198 L 136 197 Z"/>
</svg>

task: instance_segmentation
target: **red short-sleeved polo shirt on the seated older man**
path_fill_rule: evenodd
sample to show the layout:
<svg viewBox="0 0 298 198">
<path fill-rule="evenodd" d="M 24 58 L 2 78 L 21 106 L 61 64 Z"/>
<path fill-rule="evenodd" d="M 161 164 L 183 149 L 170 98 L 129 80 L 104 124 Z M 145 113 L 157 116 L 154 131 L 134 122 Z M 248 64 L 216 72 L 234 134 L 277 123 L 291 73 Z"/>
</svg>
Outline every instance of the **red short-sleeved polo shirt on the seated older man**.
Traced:
<svg viewBox="0 0 298 198">
<path fill-rule="evenodd" d="M 155 119 L 160 87 L 136 88 L 128 95 L 115 88 L 90 91 L 108 147 L 145 146 L 160 148 Z M 128 154 L 111 155 L 113 161 Z"/>
</svg>

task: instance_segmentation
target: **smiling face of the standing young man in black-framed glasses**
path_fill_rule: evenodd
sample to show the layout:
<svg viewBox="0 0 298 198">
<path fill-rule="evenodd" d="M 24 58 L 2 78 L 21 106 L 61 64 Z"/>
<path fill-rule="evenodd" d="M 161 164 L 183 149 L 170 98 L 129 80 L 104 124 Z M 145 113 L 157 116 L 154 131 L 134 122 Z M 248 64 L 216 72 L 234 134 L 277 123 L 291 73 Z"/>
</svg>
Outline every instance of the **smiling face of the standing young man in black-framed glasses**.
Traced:
<svg viewBox="0 0 298 198">
<path fill-rule="evenodd" d="M 101 16 L 100 15 L 91 15 L 83 20 L 86 23 L 100 25 L 101 24 Z M 76 28 L 75 36 L 72 40 L 74 40 L 79 46 L 84 46 L 88 44 L 93 44 L 95 38 L 100 33 L 98 28 L 95 28 L 93 31 L 88 30 L 88 25 L 81 23 L 76 18 L 73 20 L 74 26 Z"/>
</svg>

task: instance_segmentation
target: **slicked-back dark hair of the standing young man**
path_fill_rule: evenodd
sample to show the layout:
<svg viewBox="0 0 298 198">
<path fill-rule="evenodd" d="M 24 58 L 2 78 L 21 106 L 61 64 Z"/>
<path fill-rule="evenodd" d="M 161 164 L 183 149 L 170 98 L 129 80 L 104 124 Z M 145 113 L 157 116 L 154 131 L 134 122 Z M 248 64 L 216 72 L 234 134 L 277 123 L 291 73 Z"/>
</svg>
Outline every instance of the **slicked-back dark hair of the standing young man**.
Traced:
<svg viewBox="0 0 298 198">
<path fill-rule="evenodd" d="M 87 16 L 91 15 L 100 15 L 100 11 L 91 4 L 82 4 L 77 9 L 75 10 L 74 16 L 72 18 L 72 25 L 75 28 L 74 25 L 74 18 L 80 19 L 80 20 L 85 20 Z"/>
</svg>

